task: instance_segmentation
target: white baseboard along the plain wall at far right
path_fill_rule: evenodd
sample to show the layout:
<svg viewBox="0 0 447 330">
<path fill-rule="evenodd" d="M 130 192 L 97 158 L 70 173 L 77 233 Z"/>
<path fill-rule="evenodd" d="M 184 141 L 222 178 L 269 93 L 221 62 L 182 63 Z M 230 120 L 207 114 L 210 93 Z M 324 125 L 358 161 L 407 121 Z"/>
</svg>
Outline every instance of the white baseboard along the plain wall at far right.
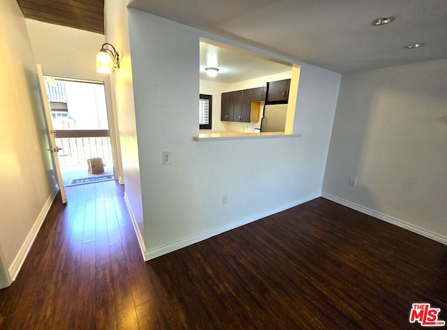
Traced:
<svg viewBox="0 0 447 330">
<path fill-rule="evenodd" d="M 402 227 L 406 230 L 409 230 L 410 232 L 415 232 L 416 234 L 420 234 L 423 237 L 427 237 L 429 239 L 432 239 L 434 241 L 437 241 L 439 243 L 443 243 L 443 244 L 447 245 L 447 237 L 437 234 L 435 232 L 430 232 L 430 230 L 426 230 L 426 229 L 419 227 L 417 225 L 407 223 L 406 221 L 395 218 L 393 216 L 388 216 L 384 213 L 374 211 L 373 209 L 368 209 L 367 207 L 362 207 L 359 204 L 349 202 L 348 200 L 343 200 L 342 198 L 339 198 L 334 195 L 330 195 L 328 193 L 322 193 L 321 196 L 327 198 L 328 200 L 332 200 L 332 202 L 336 202 L 337 204 L 342 204 L 345 207 L 349 207 L 350 209 L 354 209 L 356 211 L 365 213 L 368 216 L 373 216 L 374 218 L 377 218 L 379 220 L 383 220 L 383 221 L 386 221 L 387 223 L 397 225 L 398 227 Z"/>
</svg>

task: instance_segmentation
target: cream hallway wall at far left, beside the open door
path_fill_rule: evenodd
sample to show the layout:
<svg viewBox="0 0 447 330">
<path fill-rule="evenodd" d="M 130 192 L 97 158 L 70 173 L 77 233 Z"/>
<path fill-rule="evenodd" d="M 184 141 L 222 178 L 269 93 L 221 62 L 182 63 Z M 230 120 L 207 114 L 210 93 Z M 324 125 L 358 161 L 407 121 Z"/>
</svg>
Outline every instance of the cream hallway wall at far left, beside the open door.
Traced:
<svg viewBox="0 0 447 330">
<path fill-rule="evenodd" d="M 3 268 L 14 278 L 56 183 L 33 51 L 13 0 L 0 2 L 0 48 L 0 245 Z"/>
</svg>

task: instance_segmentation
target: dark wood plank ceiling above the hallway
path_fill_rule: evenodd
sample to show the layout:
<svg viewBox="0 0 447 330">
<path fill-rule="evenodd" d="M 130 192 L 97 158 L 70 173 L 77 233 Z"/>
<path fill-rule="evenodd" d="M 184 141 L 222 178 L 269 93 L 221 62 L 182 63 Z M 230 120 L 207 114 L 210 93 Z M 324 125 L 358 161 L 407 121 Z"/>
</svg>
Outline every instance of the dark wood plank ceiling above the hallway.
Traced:
<svg viewBox="0 0 447 330">
<path fill-rule="evenodd" d="M 104 34 L 104 0 L 17 0 L 24 17 Z"/>
</svg>

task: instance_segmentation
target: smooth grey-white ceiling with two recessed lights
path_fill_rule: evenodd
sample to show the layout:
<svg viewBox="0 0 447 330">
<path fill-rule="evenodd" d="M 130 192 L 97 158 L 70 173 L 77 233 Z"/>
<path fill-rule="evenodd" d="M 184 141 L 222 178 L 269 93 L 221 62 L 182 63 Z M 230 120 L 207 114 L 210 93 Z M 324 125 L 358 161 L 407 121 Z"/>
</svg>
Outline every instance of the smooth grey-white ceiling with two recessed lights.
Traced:
<svg viewBox="0 0 447 330">
<path fill-rule="evenodd" d="M 129 0 L 129 7 L 338 73 L 447 58 L 446 0 Z M 372 26 L 388 16 L 395 20 Z M 425 46 L 406 49 L 410 43 Z"/>
</svg>

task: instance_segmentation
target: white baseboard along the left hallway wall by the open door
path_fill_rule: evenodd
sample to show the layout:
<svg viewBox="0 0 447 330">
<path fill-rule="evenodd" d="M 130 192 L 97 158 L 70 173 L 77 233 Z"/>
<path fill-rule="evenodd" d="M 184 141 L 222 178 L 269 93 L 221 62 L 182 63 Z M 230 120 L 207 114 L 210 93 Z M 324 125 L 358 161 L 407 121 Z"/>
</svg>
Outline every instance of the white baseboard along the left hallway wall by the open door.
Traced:
<svg viewBox="0 0 447 330">
<path fill-rule="evenodd" d="M 8 271 L 10 273 L 11 280 L 14 281 L 15 278 L 17 278 L 17 275 L 19 274 L 19 271 L 22 268 L 25 259 L 27 258 L 29 250 L 31 249 L 31 246 L 34 243 L 34 239 L 36 239 L 37 234 L 42 227 L 43 221 L 45 220 L 48 211 L 50 211 L 50 207 L 58 191 L 59 186 L 54 186 L 52 192 L 50 193 L 50 197 L 47 198 L 47 201 L 43 205 L 43 208 L 41 209 L 41 212 L 37 216 L 36 221 L 34 221 L 34 225 L 33 227 L 31 227 L 31 230 L 29 231 L 27 238 L 24 240 L 22 246 L 20 247 L 20 250 L 15 256 L 13 263 L 10 265 Z"/>
</svg>

